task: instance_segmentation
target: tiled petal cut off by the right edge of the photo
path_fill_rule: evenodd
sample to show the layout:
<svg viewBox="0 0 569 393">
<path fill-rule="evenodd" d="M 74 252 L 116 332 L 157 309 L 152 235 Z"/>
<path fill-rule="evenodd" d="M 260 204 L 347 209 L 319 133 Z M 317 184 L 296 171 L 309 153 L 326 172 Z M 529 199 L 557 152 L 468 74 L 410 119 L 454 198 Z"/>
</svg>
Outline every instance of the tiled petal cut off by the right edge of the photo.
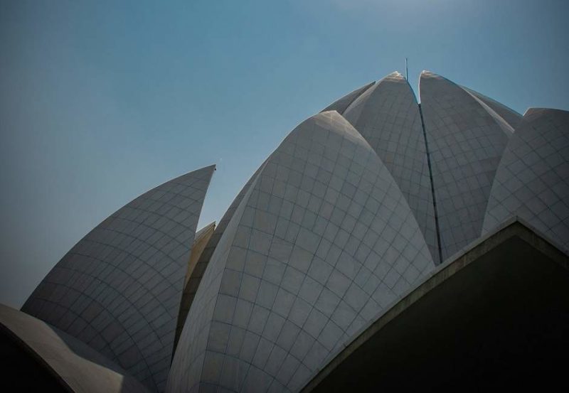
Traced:
<svg viewBox="0 0 569 393">
<path fill-rule="evenodd" d="M 500 161 L 484 230 L 512 215 L 569 250 L 569 112 L 529 109 Z"/>
</svg>

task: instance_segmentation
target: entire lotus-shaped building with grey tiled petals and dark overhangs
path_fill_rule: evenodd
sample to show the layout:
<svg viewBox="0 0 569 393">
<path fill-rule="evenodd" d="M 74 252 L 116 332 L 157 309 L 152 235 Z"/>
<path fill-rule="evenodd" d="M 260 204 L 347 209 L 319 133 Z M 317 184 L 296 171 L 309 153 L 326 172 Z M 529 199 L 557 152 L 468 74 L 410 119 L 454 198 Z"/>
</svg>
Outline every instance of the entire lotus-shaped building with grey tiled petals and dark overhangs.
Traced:
<svg viewBox="0 0 569 393">
<path fill-rule="evenodd" d="M 569 112 L 419 91 L 393 72 L 306 119 L 219 222 L 215 166 L 113 212 L 0 305 L 6 386 L 569 389 Z"/>
</svg>

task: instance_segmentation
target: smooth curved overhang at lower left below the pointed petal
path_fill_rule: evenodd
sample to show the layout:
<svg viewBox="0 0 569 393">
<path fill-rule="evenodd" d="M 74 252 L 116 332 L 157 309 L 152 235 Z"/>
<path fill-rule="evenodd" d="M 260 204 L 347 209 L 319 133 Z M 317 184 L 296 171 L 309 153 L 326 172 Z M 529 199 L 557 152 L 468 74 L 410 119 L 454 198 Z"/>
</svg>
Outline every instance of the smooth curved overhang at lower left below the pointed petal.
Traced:
<svg viewBox="0 0 569 393">
<path fill-rule="evenodd" d="M 0 304 L 2 385 L 14 392 L 149 392 L 89 345 Z"/>
</svg>

